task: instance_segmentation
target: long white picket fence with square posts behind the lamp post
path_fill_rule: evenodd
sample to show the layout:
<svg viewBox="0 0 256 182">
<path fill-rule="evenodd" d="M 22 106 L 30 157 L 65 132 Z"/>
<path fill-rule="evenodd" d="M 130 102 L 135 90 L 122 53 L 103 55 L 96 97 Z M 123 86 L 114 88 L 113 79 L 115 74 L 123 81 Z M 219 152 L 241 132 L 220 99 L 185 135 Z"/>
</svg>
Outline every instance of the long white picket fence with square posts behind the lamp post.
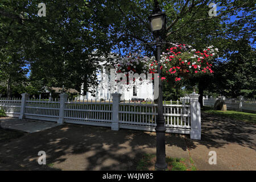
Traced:
<svg viewBox="0 0 256 182">
<path fill-rule="evenodd" d="M 198 94 L 191 94 L 191 104 L 163 104 L 167 133 L 191 134 L 192 139 L 201 138 L 201 116 Z M 67 94 L 60 100 L 29 99 L 22 94 L 21 100 L 0 98 L 0 107 L 11 117 L 40 119 L 57 123 L 107 126 L 112 130 L 134 129 L 155 131 L 158 105 L 152 102 L 120 102 L 121 95 L 112 94 L 112 101 L 69 101 Z M 193 107 L 192 107 L 193 106 Z M 192 132 L 193 131 L 193 132 Z M 192 135 L 193 133 L 193 135 Z"/>
</svg>

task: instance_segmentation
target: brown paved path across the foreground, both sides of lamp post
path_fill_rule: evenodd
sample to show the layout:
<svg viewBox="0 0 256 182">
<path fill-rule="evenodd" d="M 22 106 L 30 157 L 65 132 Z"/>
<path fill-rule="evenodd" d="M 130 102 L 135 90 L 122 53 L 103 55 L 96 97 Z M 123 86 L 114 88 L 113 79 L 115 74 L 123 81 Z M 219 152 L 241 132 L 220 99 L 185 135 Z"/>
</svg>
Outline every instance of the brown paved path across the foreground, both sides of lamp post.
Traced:
<svg viewBox="0 0 256 182">
<path fill-rule="evenodd" d="M 192 159 L 199 170 L 256 170 L 255 129 L 202 114 L 202 140 L 167 134 L 166 155 Z M 153 132 L 64 124 L 3 144 L 0 170 L 135 170 L 143 154 L 155 154 L 155 139 Z M 38 164 L 39 151 L 48 166 Z M 216 151 L 216 165 L 208 163 L 209 151 Z"/>
</svg>

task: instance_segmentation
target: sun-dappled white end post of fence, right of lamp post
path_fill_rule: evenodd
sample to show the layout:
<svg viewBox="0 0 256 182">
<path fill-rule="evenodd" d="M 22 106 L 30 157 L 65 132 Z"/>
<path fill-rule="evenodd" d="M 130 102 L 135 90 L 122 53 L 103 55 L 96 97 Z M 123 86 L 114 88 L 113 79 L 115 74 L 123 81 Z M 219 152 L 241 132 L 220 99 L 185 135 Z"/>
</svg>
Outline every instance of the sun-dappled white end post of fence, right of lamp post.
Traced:
<svg viewBox="0 0 256 182">
<path fill-rule="evenodd" d="M 200 103 L 198 101 L 199 94 L 193 92 L 190 97 L 190 110 L 191 110 L 191 139 L 201 139 L 201 111 Z"/>
</svg>

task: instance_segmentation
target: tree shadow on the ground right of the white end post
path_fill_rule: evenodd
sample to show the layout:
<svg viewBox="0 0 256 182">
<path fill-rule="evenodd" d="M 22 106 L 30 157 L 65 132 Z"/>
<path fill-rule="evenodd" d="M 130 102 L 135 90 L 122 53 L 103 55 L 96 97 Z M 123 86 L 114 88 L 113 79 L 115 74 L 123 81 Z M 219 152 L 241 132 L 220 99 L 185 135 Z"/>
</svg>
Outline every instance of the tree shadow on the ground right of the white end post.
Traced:
<svg viewBox="0 0 256 182">
<path fill-rule="evenodd" d="M 220 148 L 227 143 L 237 143 L 256 149 L 256 126 L 242 121 L 201 113 L 201 140 L 196 140 L 207 148 Z M 195 148 L 195 140 L 187 138 L 190 149 Z"/>
</svg>

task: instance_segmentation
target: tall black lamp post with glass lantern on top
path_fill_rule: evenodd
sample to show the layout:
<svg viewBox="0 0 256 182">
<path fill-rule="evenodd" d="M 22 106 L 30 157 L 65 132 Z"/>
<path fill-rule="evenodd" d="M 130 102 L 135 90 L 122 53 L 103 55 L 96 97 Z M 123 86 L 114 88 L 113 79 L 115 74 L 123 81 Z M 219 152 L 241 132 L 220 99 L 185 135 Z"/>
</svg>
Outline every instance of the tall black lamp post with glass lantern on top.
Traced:
<svg viewBox="0 0 256 182">
<path fill-rule="evenodd" d="M 160 53 L 162 43 L 160 42 L 160 36 L 163 35 L 163 32 L 166 29 L 166 14 L 164 14 L 160 8 L 158 1 L 155 0 L 155 8 L 153 13 L 149 16 L 151 31 L 153 32 L 156 39 L 156 49 L 157 49 L 157 57 L 156 61 L 158 61 L 158 74 L 159 79 L 161 78 L 161 65 L 160 61 Z M 165 119 L 163 117 L 163 93 L 162 93 L 162 81 L 159 80 L 159 96 L 158 96 L 158 116 L 156 117 L 156 163 L 155 168 L 164 170 L 167 169 L 166 163 L 166 126 Z"/>
</svg>

